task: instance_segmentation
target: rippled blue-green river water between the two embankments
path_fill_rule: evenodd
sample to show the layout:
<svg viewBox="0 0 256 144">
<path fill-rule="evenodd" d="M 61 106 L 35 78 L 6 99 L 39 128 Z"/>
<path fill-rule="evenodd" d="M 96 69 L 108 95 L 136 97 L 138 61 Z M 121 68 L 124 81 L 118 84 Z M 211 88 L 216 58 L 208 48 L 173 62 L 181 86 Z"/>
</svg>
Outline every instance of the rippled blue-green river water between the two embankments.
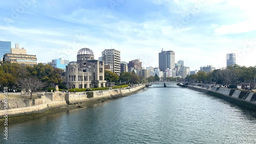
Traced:
<svg viewBox="0 0 256 144">
<path fill-rule="evenodd" d="M 0 143 L 256 143 L 256 112 L 168 83 L 0 129 Z"/>
</svg>

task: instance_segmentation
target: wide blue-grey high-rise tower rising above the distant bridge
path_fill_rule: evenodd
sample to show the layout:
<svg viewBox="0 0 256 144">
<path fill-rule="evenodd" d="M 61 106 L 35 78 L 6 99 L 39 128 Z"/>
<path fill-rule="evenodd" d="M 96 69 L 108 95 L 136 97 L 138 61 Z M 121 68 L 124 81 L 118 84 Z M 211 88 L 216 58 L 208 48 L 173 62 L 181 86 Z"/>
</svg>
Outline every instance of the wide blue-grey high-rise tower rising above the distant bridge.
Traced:
<svg viewBox="0 0 256 144">
<path fill-rule="evenodd" d="M 175 52 L 174 51 L 161 51 L 158 55 L 159 68 L 161 71 L 165 71 L 166 68 L 175 68 Z"/>
</svg>

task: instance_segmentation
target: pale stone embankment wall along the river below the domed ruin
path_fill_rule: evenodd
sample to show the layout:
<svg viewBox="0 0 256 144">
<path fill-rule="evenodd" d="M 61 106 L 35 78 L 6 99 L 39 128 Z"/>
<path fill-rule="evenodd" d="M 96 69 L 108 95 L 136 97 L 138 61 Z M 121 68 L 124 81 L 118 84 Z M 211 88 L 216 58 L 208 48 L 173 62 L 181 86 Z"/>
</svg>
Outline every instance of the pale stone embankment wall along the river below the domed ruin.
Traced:
<svg viewBox="0 0 256 144">
<path fill-rule="evenodd" d="M 0 99 L 0 119 L 4 118 L 6 112 L 8 112 L 8 117 L 15 117 L 42 113 L 54 108 L 67 107 L 73 104 L 86 103 L 86 106 L 88 106 L 88 104 L 93 105 L 97 103 L 96 100 L 102 99 L 101 102 L 103 102 L 109 99 L 125 97 L 138 92 L 144 87 L 145 85 L 138 85 L 133 88 L 92 91 L 93 97 L 90 98 L 88 98 L 86 92 L 46 92 L 39 94 L 40 98 L 34 100 L 9 99 L 8 109 L 5 109 L 4 99 Z"/>
</svg>

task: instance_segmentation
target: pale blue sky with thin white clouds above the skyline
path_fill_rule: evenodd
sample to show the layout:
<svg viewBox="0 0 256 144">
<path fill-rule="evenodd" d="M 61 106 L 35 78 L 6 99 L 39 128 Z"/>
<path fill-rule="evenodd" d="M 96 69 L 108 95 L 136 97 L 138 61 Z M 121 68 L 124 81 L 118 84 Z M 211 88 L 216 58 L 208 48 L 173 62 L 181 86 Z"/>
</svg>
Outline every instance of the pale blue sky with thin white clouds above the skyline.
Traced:
<svg viewBox="0 0 256 144">
<path fill-rule="evenodd" d="M 121 61 L 140 59 L 158 67 L 158 53 L 175 52 L 190 70 L 255 66 L 256 9 L 249 0 L 4 0 L 0 1 L 0 41 L 11 41 L 36 55 L 37 62 L 76 61 L 87 47 L 95 59 L 105 49 Z"/>
</svg>

